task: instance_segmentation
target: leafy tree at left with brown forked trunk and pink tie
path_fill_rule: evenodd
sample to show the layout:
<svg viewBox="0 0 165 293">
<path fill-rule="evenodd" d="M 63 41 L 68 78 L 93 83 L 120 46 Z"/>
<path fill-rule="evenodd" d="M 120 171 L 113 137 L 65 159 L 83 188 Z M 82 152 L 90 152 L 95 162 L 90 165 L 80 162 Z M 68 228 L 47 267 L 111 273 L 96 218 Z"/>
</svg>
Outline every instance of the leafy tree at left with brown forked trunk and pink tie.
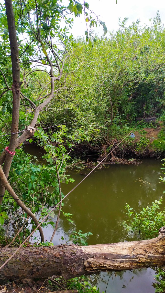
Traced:
<svg viewBox="0 0 165 293">
<path fill-rule="evenodd" d="M 48 180 L 47 186 L 49 186 L 49 178 L 53 170 L 53 174 L 56 173 L 56 179 L 54 183 L 52 181 L 52 184 L 54 184 L 53 187 L 56 187 L 58 183 L 57 189 L 60 194 L 60 200 L 62 199 L 62 194 L 60 192 L 60 172 L 62 172 L 62 178 L 65 177 L 63 164 L 64 159 L 67 159 L 67 155 L 65 155 L 65 147 L 60 144 L 59 135 L 66 136 L 64 127 L 61 127 L 63 134 L 58 134 L 58 132 L 56 132 L 54 135 L 55 138 L 52 137 L 52 141 L 56 139 L 60 148 L 57 147 L 56 150 L 53 151 L 51 146 L 46 146 L 46 150 L 50 154 L 50 157 L 55 161 L 55 169 L 52 169 L 53 167 L 33 166 L 29 163 L 29 157 L 26 158 L 22 149 L 20 153 L 23 154 L 23 156 L 19 157 L 19 163 L 18 161 L 14 163 L 13 157 L 15 152 L 16 156 L 18 155 L 18 149 L 21 144 L 35 134 L 36 123 L 40 121 L 39 114 L 41 111 L 47 107 L 57 93 L 65 88 L 65 71 L 65 77 L 61 81 L 64 64 L 69 57 L 70 50 L 75 46 L 73 36 L 68 33 L 68 26 L 70 28 L 72 27 L 73 18 L 68 18 L 67 16 L 69 16 L 69 14 L 74 14 L 75 17 L 77 17 L 82 13 L 86 15 L 86 39 L 92 44 L 92 35 L 88 33 L 88 27 L 91 28 L 92 25 L 97 26 L 97 24 L 102 25 L 105 33 L 107 29 L 105 23 L 100 22 L 98 18 L 96 20 L 93 18 L 95 15 L 89 10 L 89 5 L 85 1 L 81 4 L 80 1 L 70 0 L 68 1 L 68 6 L 63 6 L 62 1 L 58 0 L 53 2 L 42 0 L 23 2 L 6 0 L 5 5 L 3 3 L 0 4 L 0 106 L 1 113 L 4 117 L 8 117 L 8 115 L 12 114 L 12 118 L 9 118 L 10 125 L 8 126 L 6 122 L 4 122 L 7 130 L 11 131 L 11 136 L 9 147 L 7 147 L 8 142 L 5 140 L 5 145 L 1 146 L 2 149 L 4 147 L 4 150 L 0 156 L 0 203 L 2 203 L 6 188 L 17 205 L 32 218 L 36 226 L 38 226 L 39 222 L 34 212 L 36 212 L 38 208 L 32 207 L 31 205 L 31 209 L 28 209 L 16 195 L 9 182 L 6 181 L 6 178 L 9 176 L 11 166 L 12 171 L 14 171 L 13 178 L 15 178 L 15 180 L 18 180 L 18 176 L 20 176 L 22 172 L 22 181 L 27 187 L 27 192 L 22 190 L 21 184 L 16 185 L 16 183 L 14 184 L 13 182 L 12 185 L 13 187 L 19 187 L 17 191 L 21 193 L 22 199 L 25 200 L 26 198 L 34 201 L 37 200 L 37 197 L 33 195 L 36 193 L 35 190 L 38 187 L 35 181 L 38 180 L 40 175 L 42 179 L 45 178 Z M 64 27 L 60 25 L 62 19 L 65 22 Z M 46 66 L 45 69 L 43 69 L 43 65 Z M 38 66 L 40 67 L 38 68 Z M 49 72 L 47 68 L 49 68 Z M 43 85 L 41 79 L 38 80 L 38 72 L 45 74 L 43 76 L 48 76 L 47 85 Z M 1 119 L 4 121 L 3 116 Z M 83 137 L 83 131 L 80 132 L 82 134 L 80 137 Z M 40 131 L 37 132 L 35 136 L 42 137 L 42 142 L 45 142 L 45 139 L 47 139 L 47 141 L 49 140 L 48 136 L 41 135 Z M 29 142 L 32 142 L 32 139 L 30 139 Z M 61 154 L 62 162 L 59 163 L 59 156 L 61 156 Z M 46 157 L 46 160 L 49 162 L 52 160 L 50 157 L 48 155 Z M 23 158 L 26 158 L 25 161 L 28 163 L 28 167 L 26 167 L 26 164 L 23 162 Z M 29 179 L 27 179 L 26 176 L 29 176 Z M 46 184 L 42 179 L 40 180 L 41 194 Z M 66 181 L 67 180 L 66 178 Z M 25 189 L 25 185 L 23 185 L 23 189 Z M 13 203 L 14 209 L 17 206 L 16 203 Z M 60 208 L 61 204 L 59 210 Z M 6 214 L 1 214 L 1 223 L 4 218 L 6 218 Z M 41 241 L 43 242 L 44 236 L 41 226 L 39 226 L 38 229 L 41 235 Z"/>
</svg>

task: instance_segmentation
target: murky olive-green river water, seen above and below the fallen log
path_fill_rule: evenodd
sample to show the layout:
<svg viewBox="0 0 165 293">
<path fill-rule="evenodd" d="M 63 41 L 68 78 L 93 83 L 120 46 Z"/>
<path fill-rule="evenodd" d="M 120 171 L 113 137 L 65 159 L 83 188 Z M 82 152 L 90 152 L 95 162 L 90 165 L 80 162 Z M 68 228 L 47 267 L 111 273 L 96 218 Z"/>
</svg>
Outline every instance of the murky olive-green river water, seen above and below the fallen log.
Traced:
<svg viewBox="0 0 165 293">
<path fill-rule="evenodd" d="M 65 243 L 72 231 L 91 231 L 88 244 L 114 243 L 134 240 L 120 226 L 126 219 L 124 206 L 127 202 L 137 212 L 150 205 L 152 201 L 163 196 L 165 186 L 159 183 L 161 160 L 145 159 L 139 165 L 110 165 L 97 170 L 87 177 L 68 198 L 63 207 L 64 212 L 73 214 L 74 224 L 61 217 L 54 244 Z M 74 183 L 62 185 L 67 194 L 83 175 L 70 172 Z M 138 181 L 147 181 L 146 184 Z M 55 214 L 56 217 L 56 214 Z M 46 240 L 49 240 L 53 228 L 44 229 Z M 61 236 L 64 240 L 61 240 Z M 118 273 L 101 273 L 92 277 L 94 285 L 107 293 L 152 293 L 155 289 L 155 271 L 152 269 L 125 271 Z"/>
</svg>

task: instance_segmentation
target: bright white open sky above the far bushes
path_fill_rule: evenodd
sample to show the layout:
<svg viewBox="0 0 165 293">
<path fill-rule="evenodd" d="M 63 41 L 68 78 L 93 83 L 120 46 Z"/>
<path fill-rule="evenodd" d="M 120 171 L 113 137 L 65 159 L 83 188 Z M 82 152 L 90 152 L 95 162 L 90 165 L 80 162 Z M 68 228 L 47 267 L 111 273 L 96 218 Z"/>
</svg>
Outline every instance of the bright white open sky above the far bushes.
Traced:
<svg viewBox="0 0 165 293">
<path fill-rule="evenodd" d="M 154 18 L 159 10 L 162 23 L 165 23 L 165 0 L 85 0 L 89 8 L 104 21 L 108 30 L 118 29 L 118 18 L 129 17 L 128 24 L 140 19 L 140 24 L 149 25 L 149 18 Z M 76 18 L 72 33 L 75 37 L 84 36 L 86 30 L 84 16 Z M 98 35 L 103 34 L 102 26 L 96 28 Z"/>
</svg>

